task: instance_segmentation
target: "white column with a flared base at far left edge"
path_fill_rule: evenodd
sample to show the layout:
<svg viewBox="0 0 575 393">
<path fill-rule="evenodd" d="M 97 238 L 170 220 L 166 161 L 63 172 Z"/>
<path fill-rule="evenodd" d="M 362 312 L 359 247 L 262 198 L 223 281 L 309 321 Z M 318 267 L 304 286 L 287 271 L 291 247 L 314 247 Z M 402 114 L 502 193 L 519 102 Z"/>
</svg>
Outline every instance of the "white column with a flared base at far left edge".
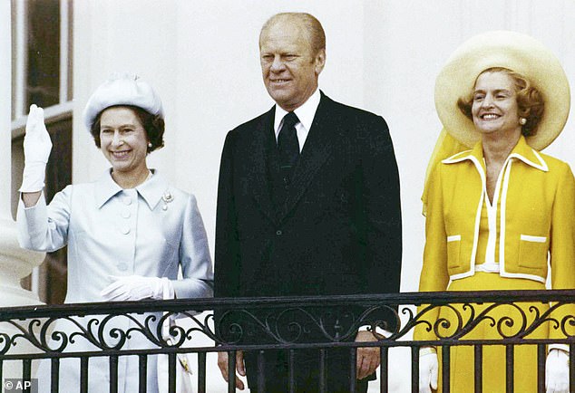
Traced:
<svg viewBox="0 0 575 393">
<path fill-rule="evenodd" d="M 20 286 L 20 280 L 41 264 L 44 254 L 20 248 L 16 239 L 16 225 L 11 213 L 11 168 L 12 168 L 12 45 L 11 45 L 11 2 L 0 0 L 0 308 L 39 304 L 38 297 Z M 8 334 L 15 329 L 0 323 L 0 330 Z M 25 340 L 19 340 L 16 350 L 29 351 Z M 9 353 L 15 353 L 10 351 Z M 4 378 L 21 375 L 21 365 L 5 362 Z"/>
</svg>

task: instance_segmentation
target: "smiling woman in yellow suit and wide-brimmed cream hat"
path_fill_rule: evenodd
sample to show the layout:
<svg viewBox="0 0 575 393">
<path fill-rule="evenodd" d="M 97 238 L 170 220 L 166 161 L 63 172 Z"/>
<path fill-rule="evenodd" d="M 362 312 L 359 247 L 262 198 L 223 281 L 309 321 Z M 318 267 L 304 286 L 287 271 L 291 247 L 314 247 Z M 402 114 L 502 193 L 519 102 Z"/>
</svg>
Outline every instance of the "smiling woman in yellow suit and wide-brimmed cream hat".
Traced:
<svg viewBox="0 0 575 393">
<path fill-rule="evenodd" d="M 539 152 L 559 134 L 570 108 L 569 83 L 560 63 L 541 43 L 513 32 L 480 34 L 453 53 L 435 85 L 435 105 L 445 131 L 441 151 L 471 149 L 436 157 L 424 192 L 424 265 L 419 290 L 492 291 L 545 289 L 548 257 L 554 289 L 575 288 L 575 180 L 568 164 Z M 457 150 L 456 148 L 454 148 Z M 442 160 L 442 158 L 444 158 Z M 488 304 L 473 305 L 481 312 Z M 525 322 L 535 306 L 519 305 Z M 420 311 L 424 307 L 420 308 Z M 428 310 L 432 326 L 457 329 L 471 316 L 461 305 Z M 509 317 L 503 334 L 521 329 L 523 316 L 500 305 L 489 316 Z M 415 340 L 435 340 L 435 330 L 420 324 Z M 451 329 L 451 331 L 450 331 Z M 550 336 L 551 335 L 551 336 Z M 531 338 L 560 337 L 549 324 Z M 501 339 L 497 325 L 482 321 L 463 339 Z M 551 345 L 546 362 L 548 392 L 569 389 L 568 347 Z M 453 346 L 450 387 L 473 391 L 473 347 Z M 484 346 L 482 389 L 505 391 L 505 349 Z M 420 351 L 420 392 L 437 388 L 438 359 L 433 347 Z M 537 348 L 516 346 L 516 392 L 537 391 Z M 439 373 L 441 375 L 441 373 Z M 440 390 L 442 381 L 439 381 Z"/>
</svg>

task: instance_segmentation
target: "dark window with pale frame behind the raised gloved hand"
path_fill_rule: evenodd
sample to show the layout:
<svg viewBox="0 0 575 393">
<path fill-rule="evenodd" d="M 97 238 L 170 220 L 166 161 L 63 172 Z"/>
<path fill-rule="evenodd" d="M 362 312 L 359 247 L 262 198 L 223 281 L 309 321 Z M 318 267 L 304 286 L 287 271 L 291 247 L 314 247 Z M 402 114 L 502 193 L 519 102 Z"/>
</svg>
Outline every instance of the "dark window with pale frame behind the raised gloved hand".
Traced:
<svg viewBox="0 0 575 393">
<path fill-rule="evenodd" d="M 12 0 L 12 163 L 13 214 L 24 168 L 24 128 L 32 103 L 44 107 L 54 148 L 46 168 L 44 194 L 72 183 L 72 0 Z M 66 253 L 46 255 L 44 264 L 24 279 L 24 287 L 43 302 L 63 302 Z"/>
</svg>

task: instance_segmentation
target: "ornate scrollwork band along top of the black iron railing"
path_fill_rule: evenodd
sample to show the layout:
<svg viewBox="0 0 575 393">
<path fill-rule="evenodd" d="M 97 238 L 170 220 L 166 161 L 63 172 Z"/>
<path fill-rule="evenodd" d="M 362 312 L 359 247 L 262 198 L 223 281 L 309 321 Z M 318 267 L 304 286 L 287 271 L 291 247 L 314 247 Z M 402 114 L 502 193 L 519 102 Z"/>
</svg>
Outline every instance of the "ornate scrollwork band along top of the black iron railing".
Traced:
<svg viewBox="0 0 575 393">
<path fill-rule="evenodd" d="M 213 311 L 213 312 L 212 312 Z M 389 334 L 385 346 L 409 345 L 421 329 L 440 343 L 476 340 L 575 342 L 575 290 L 427 292 L 292 298 L 190 299 L 86 303 L 0 309 L 0 359 L 19 342 L 37 353 L 122 354 L 130 350 L 180 350 L 196 338 L 230 347 L 334 343 L 354 340 L 367 325 Z M 178 321 L 161 334 L 163 322 Z M 541 334 L 542 331 L 551 332 Z M 407 341 L 407 344 L 406 342 Z M 420 345 L 420 344 L 414 344 Z M 214 346 L 214 350 L 216 347 Z M 6 358 L 7 359 L 7 358 Z"/>
</svg>

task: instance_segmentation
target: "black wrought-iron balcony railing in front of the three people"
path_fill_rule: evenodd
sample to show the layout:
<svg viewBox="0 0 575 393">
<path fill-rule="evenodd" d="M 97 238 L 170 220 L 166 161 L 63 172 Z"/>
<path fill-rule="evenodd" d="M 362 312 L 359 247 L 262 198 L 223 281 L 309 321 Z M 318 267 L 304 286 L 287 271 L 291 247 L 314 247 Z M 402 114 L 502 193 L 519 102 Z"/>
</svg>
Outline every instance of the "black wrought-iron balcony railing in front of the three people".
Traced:
<svg viewBox="0 0 575 393">
<path fill-rule="evenodd" d="M 52 391 L 58 386 L 63 359 L 79 359 L 81 391 L 88 391 L 88 364 L 93 358 L 108 359 L 110 391 L 117 391 L 118 361 L 137 355 L 140 361 L 140 391 L 146 391 L 148 357 L 168 354 L 170 389 L 176 391 L 176 353 L 198 356 L 198 391 L 206 391 L 206 354 L 229 352 L 229 369 L 235 369 L 238 350 L 263 354 L 286 350 L 292 357 L 298 350 L 316 349 L 319 369 L 326 350 L 346 348 L 353 359 L 358 347 L 378 347 L 381 367 L 377 384 L 389 391 L 389 350 L 411 349 L 411 386 L 418 391 L 419 349 L 434 346 L 443 356 L 443 391 L 450 391 L 450 351 L 454 346 L 474 349 L 475 391 L 482 391 L 483 349 L 503 346 L 507 359 L 505 389 L 513 391 L 513 353 L 518 345 L 537 348 L 537 391 L 544 391 L 545 357 L 548 344 L 570 348 L 570 391 L 575 391 L 575 290 L 428 292 L 396 295 L 350 295 L 292 298 L 197 299 L 147 302 L 83 303 L 0 309 L 0 366 L 19 362 L 24 380 L 33 377 L 33 362 L 51 359 Z M 204 311 L 214 311 L 206 313 Z M 203 313 L 199 313 L 203 312 Z M 216 317 L 214 317 L 214 314 Z M 435 315 L 430 318 L 431 315 Z M 177 317 L 171 327 L 171 341 L 161 335 L 161 322 Z M 217 320 L 217 321 L 215 321 Z M 390 334 L 369 343 L 354 342 L 356 331 L 365 325 Z M 473 331 L 489 326 L 495 336 L 473 338 Z M 415 329 L 433 333 L 429 340 L 412 339 Z M 549 331 L 541 336 L 537 331 Z M 213 341 L 198 346 L 196 338 Z M 470 338 L 471 337 L 471 338 Z M 27 350 L 24 350 L 27 348 Z M 351 362 L 350 375 L 355 375 Z M 534 362 L 535 364 L 535 362 Z M 2 368 L 0 367 L 0 371 Z M 13 377 L 13 376 L 11 376 Z M 0 379 L 7 378 L 6 374 Z M 470 376 L 473 380 L 473 376 Z M 258 379 L 265 384 L 265 375 Z M 351 379 L 351 387 L 355 379 Z M 320 379 L 317 391 L 325 389 Z M 293 388 L 293 383 L 290 384 Z M 235 391 L 229 379 L 229 391 Z M 473 388 L 472 388 L 473 389 Z M 288 390 L 288 388 L 287 388 Z M 102 391 L 107 391 L 102 390 Z M 471 391 L 471 390 L 470 390 Z"/>
</svg>

